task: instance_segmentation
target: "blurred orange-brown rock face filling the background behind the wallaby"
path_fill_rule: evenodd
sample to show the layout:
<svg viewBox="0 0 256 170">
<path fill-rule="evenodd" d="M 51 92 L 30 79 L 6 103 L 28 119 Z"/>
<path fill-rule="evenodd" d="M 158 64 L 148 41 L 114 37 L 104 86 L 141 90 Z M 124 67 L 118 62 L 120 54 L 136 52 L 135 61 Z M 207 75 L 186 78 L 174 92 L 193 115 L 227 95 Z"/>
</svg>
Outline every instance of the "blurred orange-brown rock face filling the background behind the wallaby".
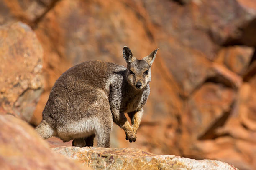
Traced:
<svg viewBox="0 0 256 170">
<path fill-rule="evenodd" d="M 0 0 L 0 25 L 1 113 L 38 125 L 72 65 L 158 47 L 136 143 L 111 146 L 256 169 L 255 0 Z"/>
</svg>

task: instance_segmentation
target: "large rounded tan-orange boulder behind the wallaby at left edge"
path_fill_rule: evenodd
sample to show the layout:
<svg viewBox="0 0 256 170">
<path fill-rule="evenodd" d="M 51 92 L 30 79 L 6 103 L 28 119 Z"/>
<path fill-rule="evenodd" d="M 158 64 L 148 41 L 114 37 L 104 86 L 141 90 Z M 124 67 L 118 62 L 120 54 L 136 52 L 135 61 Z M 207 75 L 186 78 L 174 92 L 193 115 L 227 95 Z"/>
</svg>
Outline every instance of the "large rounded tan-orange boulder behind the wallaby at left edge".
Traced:
<svg viewBox="0 0 256 170">
<path fill-rule="evenodd" d="M 0 112 L 29 122 L 43 90 L 43 49 L 21 22 L 0 27 Z"/>
</svg>

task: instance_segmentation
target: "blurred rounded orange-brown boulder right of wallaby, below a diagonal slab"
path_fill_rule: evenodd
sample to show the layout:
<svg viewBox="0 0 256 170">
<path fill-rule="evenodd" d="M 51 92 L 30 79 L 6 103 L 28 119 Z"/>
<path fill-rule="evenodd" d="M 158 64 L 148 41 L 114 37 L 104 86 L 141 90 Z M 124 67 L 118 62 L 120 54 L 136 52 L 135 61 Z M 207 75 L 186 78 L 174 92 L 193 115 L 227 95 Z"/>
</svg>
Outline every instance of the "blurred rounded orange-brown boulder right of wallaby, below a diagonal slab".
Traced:
<svg viewBox="0 0 256 170">
<path fill-rule="evenodd" d="M 212 138 L 211 128 L 216 123 L 225 121 L 230 114 L 230 107 L 235 100 L 236 93 L 232 88 L 212 82 L 205 83 L 189 98 L 189 112 L 185 116 L 187 128 L 191 138 Z"/>
</svg>

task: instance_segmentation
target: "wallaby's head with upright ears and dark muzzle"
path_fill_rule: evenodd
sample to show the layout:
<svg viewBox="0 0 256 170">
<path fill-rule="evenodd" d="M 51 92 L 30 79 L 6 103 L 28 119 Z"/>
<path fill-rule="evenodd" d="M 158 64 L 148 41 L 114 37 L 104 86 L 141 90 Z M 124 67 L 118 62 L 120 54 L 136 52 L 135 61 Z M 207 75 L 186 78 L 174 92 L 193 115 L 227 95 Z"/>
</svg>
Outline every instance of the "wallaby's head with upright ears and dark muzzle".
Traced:
<svg viewBox="0 0 256 170">
<path fill-rule="evenodd" d="M 151 80 L 151 66 L 155 60 L 156 52 L 154 50 L 142 60 L 133 56 L 128 47 L 123 47 L 123 57 L 127 62 L 127 81 L 137 90 L 143 89 Z"/>
</svg>

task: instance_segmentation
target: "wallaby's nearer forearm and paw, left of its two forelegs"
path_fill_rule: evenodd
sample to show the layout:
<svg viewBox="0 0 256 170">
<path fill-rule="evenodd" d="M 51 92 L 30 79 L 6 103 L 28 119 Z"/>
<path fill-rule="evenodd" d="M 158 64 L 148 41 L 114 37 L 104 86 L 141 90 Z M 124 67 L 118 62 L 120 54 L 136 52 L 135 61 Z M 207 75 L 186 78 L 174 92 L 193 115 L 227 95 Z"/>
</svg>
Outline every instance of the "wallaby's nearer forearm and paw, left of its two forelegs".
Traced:
<svg viewBox="0 0 256 170">
<path fill-rule="evenodd" d="M 125 139 L 130 142 L 136 141 L 136 134 L 133 132 L 130 123 L 123 113 L 113 115 L 113 121 L 125 131 Z"/>
</svg>

